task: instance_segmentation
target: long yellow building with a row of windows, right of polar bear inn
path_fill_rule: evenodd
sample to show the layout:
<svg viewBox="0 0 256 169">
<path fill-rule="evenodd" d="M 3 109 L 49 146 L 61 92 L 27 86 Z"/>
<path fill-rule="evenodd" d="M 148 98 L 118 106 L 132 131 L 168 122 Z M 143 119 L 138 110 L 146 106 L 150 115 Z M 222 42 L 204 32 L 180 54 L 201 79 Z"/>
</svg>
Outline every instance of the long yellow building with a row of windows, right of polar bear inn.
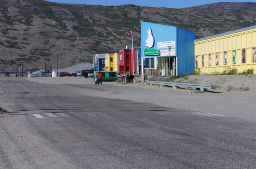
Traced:
<svg viewBox="0 0 256 169">
<path fill-rule="evenodd" d="M 213 73 L 227 67 L 256 73 L 256 25 L 195 40 L 195 68 Z"/>
</svg>

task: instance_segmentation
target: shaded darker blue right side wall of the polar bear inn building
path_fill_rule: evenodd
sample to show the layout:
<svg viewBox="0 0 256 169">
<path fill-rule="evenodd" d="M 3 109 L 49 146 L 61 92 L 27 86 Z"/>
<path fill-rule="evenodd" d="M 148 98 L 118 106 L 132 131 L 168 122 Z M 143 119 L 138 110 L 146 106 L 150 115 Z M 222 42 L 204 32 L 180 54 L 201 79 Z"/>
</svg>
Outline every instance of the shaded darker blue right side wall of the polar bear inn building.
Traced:
<svg viewBox="0 0 256 169">
<path fill-rule="evenodd" d="M 195 32 L 177 28 L 177 74 L 189 74 L 194 71 Z"/>
</svg>

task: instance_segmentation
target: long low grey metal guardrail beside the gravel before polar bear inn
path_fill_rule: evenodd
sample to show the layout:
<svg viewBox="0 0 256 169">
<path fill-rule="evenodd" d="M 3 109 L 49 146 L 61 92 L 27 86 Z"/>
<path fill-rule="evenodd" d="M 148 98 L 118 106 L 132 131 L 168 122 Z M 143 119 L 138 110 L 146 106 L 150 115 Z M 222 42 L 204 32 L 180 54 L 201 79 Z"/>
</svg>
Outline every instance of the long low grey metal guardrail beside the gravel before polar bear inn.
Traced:
<svg viewBox="0 0 256 169">
<path fill-rule="evenodd" d="M 206 84 L 198 84 L 198 83 L 177 83 L 177 82 L 161 82 L 161 81 L 150 81 L 145 80 L 145 83 L 150 83 L 153 85 L 165 85 L 165 86 L 175 86 L 175 87 L 191 87 L 196 88 L 196 90 L 206 90 L 206 89 L 212 89 L 212 85 L 206 85 Z"/>
</svg>

